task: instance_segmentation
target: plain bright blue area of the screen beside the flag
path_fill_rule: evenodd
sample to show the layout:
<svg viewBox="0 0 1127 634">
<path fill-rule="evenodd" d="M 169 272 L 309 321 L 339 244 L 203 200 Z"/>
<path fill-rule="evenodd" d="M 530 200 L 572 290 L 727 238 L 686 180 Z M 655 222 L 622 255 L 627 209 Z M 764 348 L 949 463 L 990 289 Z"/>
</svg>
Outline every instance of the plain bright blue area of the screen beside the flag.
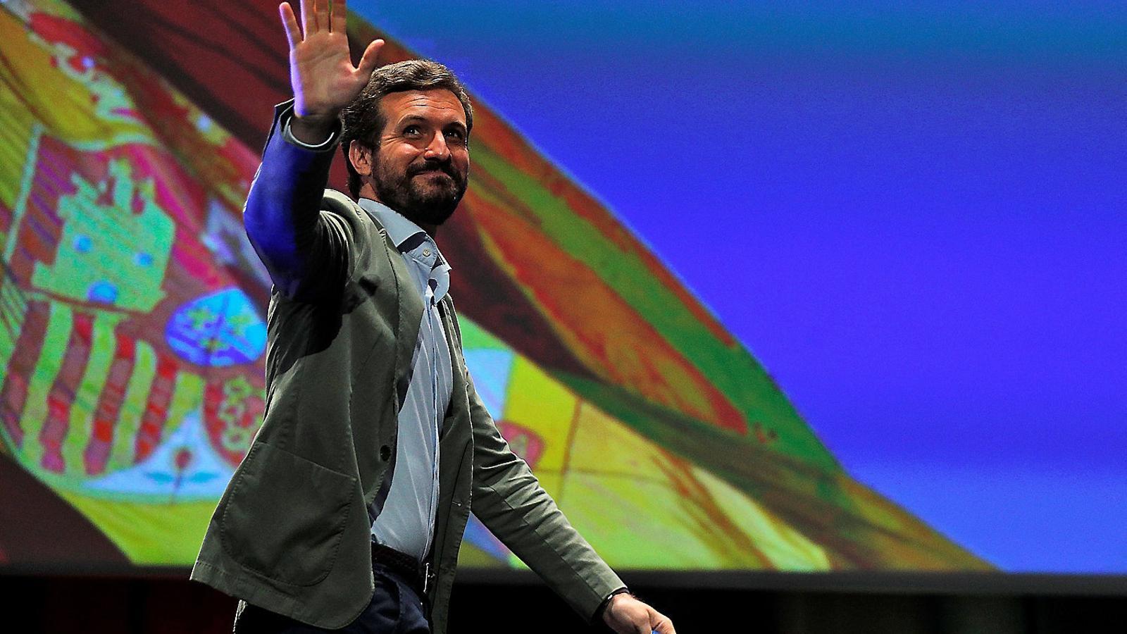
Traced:
<svg viewBox="0 0 1127 634">
<path fill-rule="evenodd" d="M 1127 7 L 353 2 L 632 227 L 855 477 L 1127 572 Z"/>
</svg>

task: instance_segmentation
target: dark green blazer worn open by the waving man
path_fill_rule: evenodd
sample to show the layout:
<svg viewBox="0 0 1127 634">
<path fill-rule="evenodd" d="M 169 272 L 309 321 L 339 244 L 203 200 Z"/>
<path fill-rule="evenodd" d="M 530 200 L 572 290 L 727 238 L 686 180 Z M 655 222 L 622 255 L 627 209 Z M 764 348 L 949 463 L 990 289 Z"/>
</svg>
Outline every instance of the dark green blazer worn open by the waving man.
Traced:
<svg viewBox="0 0 1127 634">
<path fill-rule="evenodd" d="M 212 516 L 192 579 L 331 629 L 352 623 L 374 589 L 367 508 L 396 451 L 397 395 L 408 381 L 423 301 L 384 229 L 344 194 L 322 190 L 332 148 L 298 148 L 277 133 L 287 106 L 276 111 L 245 213 L 275 282 L 266 412 Z M 287 205 L 294 218 L 285 215 Z M 277 256 L 276 245 L 256 240 L 263 235 L 257 222 L 282 221 L 313 228 L 301 245 L 309 265 L 300 272 Z M 446 628 L 471 509 L 573 608 L 593 618 L 623 583 L 497 431 L 465 368 L 450 293 L 441 312 L 455 380 L 440 437 L 434 632 Z"/>
</svg>

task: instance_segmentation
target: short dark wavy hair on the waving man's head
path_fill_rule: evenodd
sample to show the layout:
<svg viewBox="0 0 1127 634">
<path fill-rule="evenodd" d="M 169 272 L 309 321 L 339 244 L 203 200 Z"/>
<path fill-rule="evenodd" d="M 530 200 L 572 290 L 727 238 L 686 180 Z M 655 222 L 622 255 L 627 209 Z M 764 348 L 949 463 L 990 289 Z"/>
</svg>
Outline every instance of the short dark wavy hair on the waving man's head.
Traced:
<svg viewBox="0 0 1127 634">
<path fill-rule="evenodd" d="M 473 130 L 473 107 L 470 106 L 465 87 L 453 71 L 431 60 L 407 60 L 375 69 L 367 86 L 340 111 L 340 123 L 344 124 L 340 151 L 345 155 L 345 166 L 348 168 L 348 192 L 354 199 L 360 196 L 361 178 L 348 159 L 348 148 L 353 141 L 358 141 L 372 148 L 372 151 L 380 149 L 380 133 L 388 123 L 380 108 L 383 97 L 390 93 L 435 88 L 450 90 L 461 102 L 462 109 L 465 111 L 465 132 L 469 135 Z"/>
</svg>

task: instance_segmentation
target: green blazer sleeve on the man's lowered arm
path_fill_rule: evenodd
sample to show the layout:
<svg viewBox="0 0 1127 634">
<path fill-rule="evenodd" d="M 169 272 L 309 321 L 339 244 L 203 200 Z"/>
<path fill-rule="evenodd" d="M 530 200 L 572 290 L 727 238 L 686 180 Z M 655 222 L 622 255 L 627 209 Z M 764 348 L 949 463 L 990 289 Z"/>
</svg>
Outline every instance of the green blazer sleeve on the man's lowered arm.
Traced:
<svg viewBox="0 0 1127 634">
<path fill-rule="evenodd" d="M 525 461 L 509 449 L 473 388 L 472 378 L 469 397 L 473 513 L 591 622 L 603 599 L 625 584 L 571 527 Z"/>
</svg>

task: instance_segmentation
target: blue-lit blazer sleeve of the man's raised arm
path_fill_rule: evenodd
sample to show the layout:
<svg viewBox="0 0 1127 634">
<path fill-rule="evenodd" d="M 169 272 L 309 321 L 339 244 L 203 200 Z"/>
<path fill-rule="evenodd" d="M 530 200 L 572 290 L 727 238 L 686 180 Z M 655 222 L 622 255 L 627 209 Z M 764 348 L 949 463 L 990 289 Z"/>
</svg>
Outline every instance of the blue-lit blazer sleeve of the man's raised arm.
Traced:
<svg viewBox="0 0 1127 634">
<path fill-rule="evenodd" d="M 292 99 L 274 109 L 242 221 L 275 289 L 291 299 L 312 300 L 339 290 L 350 275 L 352 231 L 344 219 L 321 210 L 339 123 L 332 142 L 312 149 L 286 140 L 292 116 Z"/>
</svg>

